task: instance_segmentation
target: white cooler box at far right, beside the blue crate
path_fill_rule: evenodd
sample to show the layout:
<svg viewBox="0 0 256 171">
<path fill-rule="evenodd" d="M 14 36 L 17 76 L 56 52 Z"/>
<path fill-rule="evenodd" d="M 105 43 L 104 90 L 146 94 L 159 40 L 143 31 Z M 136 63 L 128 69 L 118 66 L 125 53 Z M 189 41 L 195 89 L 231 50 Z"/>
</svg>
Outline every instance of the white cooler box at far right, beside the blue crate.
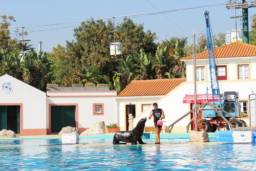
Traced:
<svg viewBox="0 0 256 171">
<path fill-rule="evenodd" d="M 252 143 L 252 131 L 234 131 L 234 143 Z"/>
</svg>

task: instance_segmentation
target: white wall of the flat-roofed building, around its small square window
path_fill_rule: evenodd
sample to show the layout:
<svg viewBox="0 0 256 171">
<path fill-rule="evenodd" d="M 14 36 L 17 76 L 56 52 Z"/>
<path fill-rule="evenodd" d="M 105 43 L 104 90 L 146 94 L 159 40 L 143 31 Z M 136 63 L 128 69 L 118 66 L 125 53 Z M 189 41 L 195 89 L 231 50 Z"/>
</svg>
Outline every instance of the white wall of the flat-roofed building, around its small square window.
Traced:
<svg viewBox="0 0 256 171">
<path fill-rule="evenodd" d="M 110 123 L 117 123 L 117 106 L 116 106 L 116 91 L 100 92 L 100 91 L 72 91 L 65 93 L 65 97 L 54 97 L 54 95 L 62 94 L 63 92 L 57 93 L 48 91 L 47 95 L 47 116 L 49 116 L 49 104 L 73 104 L 78 103 L 78 127 L 89 128 L 95 123 L 104 121 L 105 125 Z M 73 94 L 76 97 L 72 97 Z M 103 95 L 100 95 L 103 94 Z M 110 97 L 108 97 L 108 95 Z M 69 97 L 70 96 L 70 97 Z M 79 97 L 81 96 L 81 97 Z M 93 115 L 93 103 L 104 104 L 104 115 Z M 47 128 L 49 128 L 49 117 L 47 118 Z"/>
</svg>

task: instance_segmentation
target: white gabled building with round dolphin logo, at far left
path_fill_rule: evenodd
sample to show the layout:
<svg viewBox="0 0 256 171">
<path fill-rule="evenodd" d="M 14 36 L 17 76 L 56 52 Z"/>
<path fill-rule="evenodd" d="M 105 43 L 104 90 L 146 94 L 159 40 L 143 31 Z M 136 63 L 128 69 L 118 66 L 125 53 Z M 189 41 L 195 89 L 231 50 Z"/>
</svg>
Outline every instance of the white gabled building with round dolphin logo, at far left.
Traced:
<svg viewBox="0 0 256 171">
<path fill-rule="evenodd" d="M 7 74 L 0 86 L 0 130 L 46 135 L 46 93 Z"/>
</svg>

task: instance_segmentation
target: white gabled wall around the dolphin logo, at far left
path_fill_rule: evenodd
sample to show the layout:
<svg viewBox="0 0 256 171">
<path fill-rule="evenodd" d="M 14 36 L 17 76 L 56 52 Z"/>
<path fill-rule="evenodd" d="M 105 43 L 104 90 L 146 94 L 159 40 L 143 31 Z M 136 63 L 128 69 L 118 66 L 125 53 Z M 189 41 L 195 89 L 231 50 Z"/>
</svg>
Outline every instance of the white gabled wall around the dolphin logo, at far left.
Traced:
<svg viewBox="0 0 256 171">
<path fill-rule="evenodd" d="M 10 82 L 13 91 L 0 90 L 0 103 L 23 103 L 23 129 L 46 129 L 46 93 L 9 75 L 0 77 L 0 86 Z"/>
</svg>

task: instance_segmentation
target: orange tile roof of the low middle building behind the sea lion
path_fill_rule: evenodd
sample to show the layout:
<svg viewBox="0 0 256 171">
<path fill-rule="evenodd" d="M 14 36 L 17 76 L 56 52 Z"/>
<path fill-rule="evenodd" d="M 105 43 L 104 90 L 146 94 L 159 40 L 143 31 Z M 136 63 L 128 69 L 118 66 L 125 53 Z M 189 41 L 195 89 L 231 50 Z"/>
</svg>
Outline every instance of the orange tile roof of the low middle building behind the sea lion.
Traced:
<svg viewBox="0 0 256 171">
<path fill-rule="evenodd" d="M 118 97 L 166 95 L 184 81 L 186 78 L 135 80 Z"/>
</svg>

